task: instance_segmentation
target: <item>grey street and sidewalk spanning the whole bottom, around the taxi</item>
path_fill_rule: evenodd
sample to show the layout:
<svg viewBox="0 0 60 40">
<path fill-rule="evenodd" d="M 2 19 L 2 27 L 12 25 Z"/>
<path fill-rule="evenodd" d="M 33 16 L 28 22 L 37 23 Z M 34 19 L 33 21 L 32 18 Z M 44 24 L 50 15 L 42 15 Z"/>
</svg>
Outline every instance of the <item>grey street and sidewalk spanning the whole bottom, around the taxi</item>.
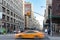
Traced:
<svg viewBox="0 0 60 40">
<path fill-rule="evenodd" d="M 60 37 L 52 37 L 46 34 L 44 39 L 15 39 L 14 34 L 0 35 L 0 40 L 60 40 Z"/>
</svg>

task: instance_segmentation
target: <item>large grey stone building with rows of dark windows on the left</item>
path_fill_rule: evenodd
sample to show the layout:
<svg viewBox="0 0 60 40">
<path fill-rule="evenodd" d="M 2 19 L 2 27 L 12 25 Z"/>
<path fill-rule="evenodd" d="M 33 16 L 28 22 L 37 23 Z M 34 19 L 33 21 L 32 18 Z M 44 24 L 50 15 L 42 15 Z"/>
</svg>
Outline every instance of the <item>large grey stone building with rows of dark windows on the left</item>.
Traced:
<svg viewBox="0 0 60 40">
<path fill-rule="evenodd" d="M 23 0 L 0 0 L 0 27 L 6 32 L 24 27 Z"/>
</svg>

